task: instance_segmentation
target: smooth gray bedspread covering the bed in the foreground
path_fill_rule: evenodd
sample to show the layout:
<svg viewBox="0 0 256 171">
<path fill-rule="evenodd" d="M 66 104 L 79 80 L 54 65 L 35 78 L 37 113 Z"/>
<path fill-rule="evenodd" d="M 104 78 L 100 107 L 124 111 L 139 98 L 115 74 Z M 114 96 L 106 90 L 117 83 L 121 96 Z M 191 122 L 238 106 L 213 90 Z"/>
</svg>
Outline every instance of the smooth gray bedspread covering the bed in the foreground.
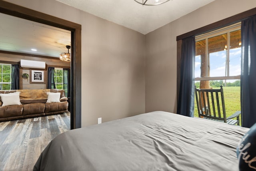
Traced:
<svg viewBox="0 0 256 171">
<path fill-rule="evenodd" d="M 34 170 L 238 171 L 248 128 L 155 111 L 58 135 Z"/>
</svg>

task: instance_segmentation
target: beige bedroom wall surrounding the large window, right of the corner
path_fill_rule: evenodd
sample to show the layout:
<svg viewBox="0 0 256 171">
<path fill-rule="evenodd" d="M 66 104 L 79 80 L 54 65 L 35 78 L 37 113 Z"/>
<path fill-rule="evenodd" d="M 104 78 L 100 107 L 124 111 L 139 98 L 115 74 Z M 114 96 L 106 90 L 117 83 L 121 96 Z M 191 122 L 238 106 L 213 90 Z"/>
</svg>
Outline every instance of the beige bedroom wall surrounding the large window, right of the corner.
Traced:
<svg viewBox="0 0 256 171">
<path fill-rule="evenodd" d="M 146 112 L 176 112 L 176 36 L 256 7 L 256 0 L 215 0 L 146 34 Z"/>
</svg>

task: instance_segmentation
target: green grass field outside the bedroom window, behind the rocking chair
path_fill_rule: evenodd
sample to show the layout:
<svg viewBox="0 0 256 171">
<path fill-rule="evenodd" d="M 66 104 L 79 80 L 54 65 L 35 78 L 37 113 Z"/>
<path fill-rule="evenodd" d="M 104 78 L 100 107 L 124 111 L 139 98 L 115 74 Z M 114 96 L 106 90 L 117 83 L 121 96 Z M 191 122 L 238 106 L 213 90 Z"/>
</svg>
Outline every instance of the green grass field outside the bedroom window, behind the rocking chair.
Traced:
<svg viewBox="0 0 256 171">
<path fill-rule="evenodd" d="M 227 117 L 241 110 L 240 87 L 223 87 Z M 198 117 L 198 110 L 195 100 L 194 117 Z M 241 116 L 240 116 L 241 125 Z"/>
</svg>

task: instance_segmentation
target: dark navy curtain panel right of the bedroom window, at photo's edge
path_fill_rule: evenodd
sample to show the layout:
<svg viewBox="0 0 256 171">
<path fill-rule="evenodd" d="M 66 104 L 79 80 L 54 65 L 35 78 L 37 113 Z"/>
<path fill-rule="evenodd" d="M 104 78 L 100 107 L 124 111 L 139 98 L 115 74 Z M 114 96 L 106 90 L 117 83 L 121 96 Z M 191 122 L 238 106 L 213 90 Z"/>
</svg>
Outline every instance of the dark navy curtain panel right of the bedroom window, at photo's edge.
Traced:
<svg viewBox="0 0 256 171">
<path fill-rule="evenodd" d="M 256 16 L 242 21 L 241 109 L 242 126 L 256 123 Z"/>
</svg>

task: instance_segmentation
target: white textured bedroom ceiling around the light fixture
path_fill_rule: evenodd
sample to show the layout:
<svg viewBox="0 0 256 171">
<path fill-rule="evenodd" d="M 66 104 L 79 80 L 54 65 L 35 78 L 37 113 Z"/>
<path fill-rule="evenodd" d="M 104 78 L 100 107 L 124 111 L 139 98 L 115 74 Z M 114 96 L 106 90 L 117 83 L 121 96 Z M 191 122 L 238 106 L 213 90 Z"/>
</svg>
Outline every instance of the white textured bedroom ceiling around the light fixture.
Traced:
<svg viewBox="0 0 256 171">
<path fill-rule="evenodd" d="M 169 0 L 157 6 L 143 6 L 134 0 L 58 1 L 147 34 L 214 0 Z"/>
</svg>

